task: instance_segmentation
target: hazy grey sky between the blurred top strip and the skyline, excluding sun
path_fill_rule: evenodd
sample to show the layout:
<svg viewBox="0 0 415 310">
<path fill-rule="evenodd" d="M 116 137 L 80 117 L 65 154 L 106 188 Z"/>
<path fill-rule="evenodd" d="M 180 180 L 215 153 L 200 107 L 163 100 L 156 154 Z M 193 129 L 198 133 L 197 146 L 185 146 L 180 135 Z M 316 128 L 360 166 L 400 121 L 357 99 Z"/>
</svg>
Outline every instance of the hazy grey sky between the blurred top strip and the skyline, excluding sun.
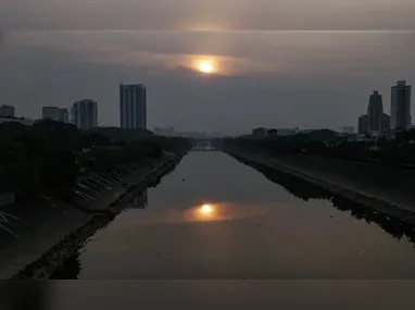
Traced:
<svg viewBox="0 0 415 310">
<path fill-rule="evenodd" d="M 385 32 L 8 32 L 0 101 L 36 117 L 93 98 L 100 122 L 117 125 L 118 83 L 144 83 L 150 128 L 338 127 L 374 89 L 389 98 L 395 79 L 414 83 L 414 47 L 412 34 Z M 235 74 L 193 71 L 201 57 Z"/>
</svg>

